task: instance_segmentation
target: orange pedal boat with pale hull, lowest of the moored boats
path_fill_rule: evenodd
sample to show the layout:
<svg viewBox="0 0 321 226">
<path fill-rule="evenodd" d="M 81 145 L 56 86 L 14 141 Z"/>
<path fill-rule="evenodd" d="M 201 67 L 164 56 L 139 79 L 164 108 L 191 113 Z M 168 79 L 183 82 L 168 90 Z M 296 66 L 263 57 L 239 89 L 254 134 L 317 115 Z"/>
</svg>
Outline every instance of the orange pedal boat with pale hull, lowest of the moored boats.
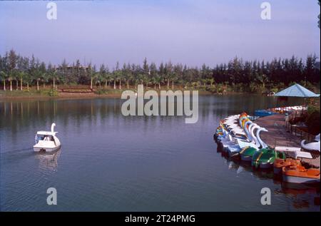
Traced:
<svg viewBox="0 0 321 226">
<path fill-rule="evenodd" d="M 288 165 L 282 168 L 282 178 L 287 183 L 320 183 L 320 170 Z"/>
</svg>

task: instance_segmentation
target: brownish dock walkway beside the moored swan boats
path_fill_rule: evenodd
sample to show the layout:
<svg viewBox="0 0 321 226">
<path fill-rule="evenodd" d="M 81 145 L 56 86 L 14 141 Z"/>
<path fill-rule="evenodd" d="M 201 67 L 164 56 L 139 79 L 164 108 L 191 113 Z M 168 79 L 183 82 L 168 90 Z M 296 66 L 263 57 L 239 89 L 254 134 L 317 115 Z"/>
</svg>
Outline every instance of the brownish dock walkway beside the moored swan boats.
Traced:
<svg viewBox="0 0 321 226">
<path fill-rule="evenodd" d="M 302 140 L 302 135 L 295 135 L 295 133 L 291 133 L 291 130 L 286 125 L 285 115 L 275 114 L 258 118 L 258 120 L 255 120 L 255 123 L 268 130 L 268 132 L 261 133 L 261 138 L 270 147 L 301 147 L 300 143 Z M 317 155 L 312 153 L 312 156 L 314 156 L 314 159 L 304 161 L 313 165 L 314 167 L 320 168 L 320 153 L 317 153 Z"/>
</svg>

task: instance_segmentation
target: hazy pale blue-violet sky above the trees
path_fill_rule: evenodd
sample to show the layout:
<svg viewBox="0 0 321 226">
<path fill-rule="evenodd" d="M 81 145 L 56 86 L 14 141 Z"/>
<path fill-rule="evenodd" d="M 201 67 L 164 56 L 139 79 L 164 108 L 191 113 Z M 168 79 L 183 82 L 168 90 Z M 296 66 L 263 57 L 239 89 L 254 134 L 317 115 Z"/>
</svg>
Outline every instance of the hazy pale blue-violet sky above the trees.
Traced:
<svg viewBox="0 0 321 226">
<path fill-rule="evenodd" d="M 45 62 L 186 63 L 200 66 L 243 59 L 320 56 L 317 0 L 274 0 L 270 21 L 258 0 L 0 2 L 0 54 L 14 48 Z"/>
</svg>

